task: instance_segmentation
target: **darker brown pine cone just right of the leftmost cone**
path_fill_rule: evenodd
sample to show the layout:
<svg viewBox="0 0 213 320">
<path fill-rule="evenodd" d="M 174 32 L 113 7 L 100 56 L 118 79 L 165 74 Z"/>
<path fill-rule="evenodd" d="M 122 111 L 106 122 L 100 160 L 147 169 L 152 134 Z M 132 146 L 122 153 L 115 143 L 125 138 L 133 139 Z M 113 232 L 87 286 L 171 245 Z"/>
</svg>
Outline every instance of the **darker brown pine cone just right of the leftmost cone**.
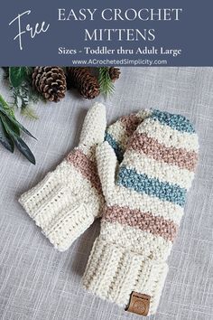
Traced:
<svg viewBox="0 0 213 320">
<path fill-rule="evenodd" d="M 70 67 L 68 77 L 72 87 L 78 89 L 84 98 L 94 99 L 100 93 L 97 78 L 90 73 L 89 68 Z"/>
</svg>

